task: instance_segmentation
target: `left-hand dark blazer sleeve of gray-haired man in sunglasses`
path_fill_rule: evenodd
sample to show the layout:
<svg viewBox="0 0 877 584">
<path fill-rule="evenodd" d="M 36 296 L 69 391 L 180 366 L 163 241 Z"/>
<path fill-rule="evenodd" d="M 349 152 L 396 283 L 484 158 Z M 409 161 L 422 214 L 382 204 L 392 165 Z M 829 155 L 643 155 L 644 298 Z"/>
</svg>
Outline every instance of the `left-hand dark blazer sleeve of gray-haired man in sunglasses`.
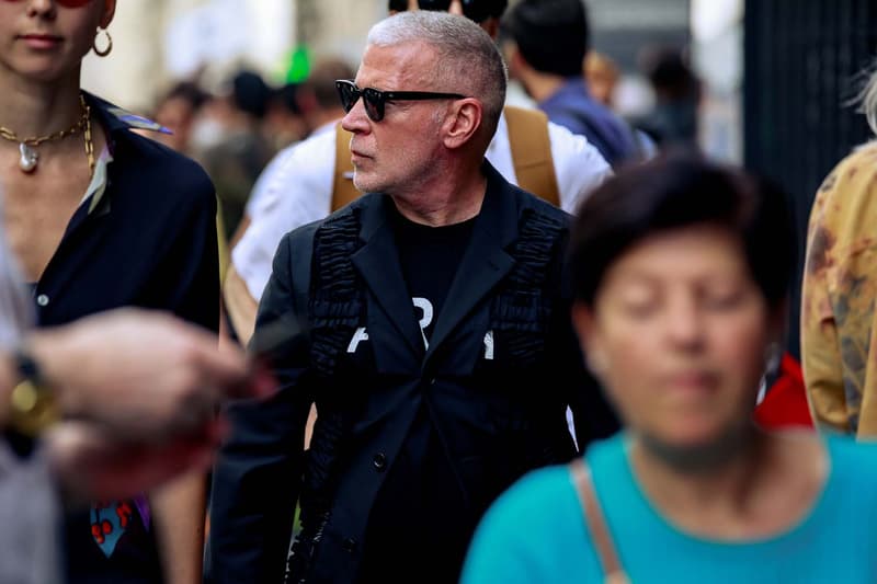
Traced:
<svg viewBox="0 0 877 584">
<path fill-rule="evenodd" d="M 293 285 L 293 275 L 300 272 L 294 271 L 294 262 L 309 264 L 310 253 L 308 245 L 303 245 L 308 248 L 304 253 L 294 253 L 293 247 L 286 236 L 274 257 L 251 348 L 276 346 L 283 329 L 295 334 L 272 353 L 277 393 L 229 406 L 232 433 L 214 469 L 206 582 L 283 582 L 312 401 L 306 389 L 307 331 L 297 324 L 307 314 Z"/>
</svg>

